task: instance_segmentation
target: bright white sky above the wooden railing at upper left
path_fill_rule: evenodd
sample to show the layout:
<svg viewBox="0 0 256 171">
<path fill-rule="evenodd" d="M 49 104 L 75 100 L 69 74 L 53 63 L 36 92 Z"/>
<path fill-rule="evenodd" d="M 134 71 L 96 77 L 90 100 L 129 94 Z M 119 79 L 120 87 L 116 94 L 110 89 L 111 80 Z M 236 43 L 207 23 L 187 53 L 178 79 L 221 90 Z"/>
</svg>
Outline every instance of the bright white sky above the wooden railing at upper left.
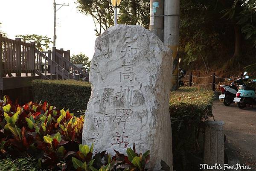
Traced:
<svg viewBox="0 0 256 171">
<path fill-rule="evenodd" d="M 96 40 L 93 18 L 76 9 L 76 0 L 55 2 L 69 3 L 56 12 L 56 48 L 69 49 L 71 55 L 82 52 L 91 59 Z M 16 35 L 36 34 L 47 35 L 53 41 L 53 0 L 0 0 L 0 23 L 0 30 L 11 39 Z"/>
</svg>

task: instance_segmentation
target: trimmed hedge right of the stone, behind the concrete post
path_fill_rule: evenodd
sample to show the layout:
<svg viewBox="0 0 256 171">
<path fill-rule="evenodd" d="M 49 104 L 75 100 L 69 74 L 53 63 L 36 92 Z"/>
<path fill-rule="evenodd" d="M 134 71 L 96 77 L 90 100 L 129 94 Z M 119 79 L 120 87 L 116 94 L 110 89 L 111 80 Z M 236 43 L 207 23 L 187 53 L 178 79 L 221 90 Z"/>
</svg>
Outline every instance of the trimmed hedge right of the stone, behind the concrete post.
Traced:
<svg viewBox="0 0 256 171">
<path fill-rule="evenodd" d="M 213 92 L 182 87 L 170 95 L 173 136 L 173 167 L 176 171 L 199 170 L 203 163 L 201 122 L 212 117 Z"/>
</svg>

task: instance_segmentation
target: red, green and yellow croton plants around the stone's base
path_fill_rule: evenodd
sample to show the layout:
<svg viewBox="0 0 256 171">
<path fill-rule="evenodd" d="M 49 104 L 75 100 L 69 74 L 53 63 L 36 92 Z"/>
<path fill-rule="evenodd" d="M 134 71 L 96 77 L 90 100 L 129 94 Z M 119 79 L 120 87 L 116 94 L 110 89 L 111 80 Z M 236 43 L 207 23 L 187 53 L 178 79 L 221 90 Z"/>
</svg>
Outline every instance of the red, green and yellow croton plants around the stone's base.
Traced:
<svg viewBox="0 0 256 171">
<path fill-rule="evenodd" d="M 56 110 L 44 103 L 23 106 L 8 96 L 0 101 L 0 157 L 32 156 L 38 166 L 61 171 L 143 171 L 150 151 L 111 157 L 106 151 L 93 154 L 93 145 L 81 145 L 84 116 Z"/>
</svg>

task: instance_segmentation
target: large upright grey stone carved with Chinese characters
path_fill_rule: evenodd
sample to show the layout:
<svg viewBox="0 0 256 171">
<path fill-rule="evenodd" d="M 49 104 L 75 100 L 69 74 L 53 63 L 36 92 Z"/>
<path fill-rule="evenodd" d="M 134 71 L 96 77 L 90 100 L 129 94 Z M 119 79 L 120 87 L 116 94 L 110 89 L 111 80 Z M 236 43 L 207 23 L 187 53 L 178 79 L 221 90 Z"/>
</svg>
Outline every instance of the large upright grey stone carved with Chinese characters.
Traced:
<svg viewBox="0 0 256 171">
<path fill-rule="evenodd" d="M 149 168 L 160 168 L 163 159 L 172 170 L 171 66 L 169 48 L 142 26 L 118 24 L 99 36 L 83 143 L 113 155 L 135 142 L 137 152 L 151 150 Z"/>
</svg>

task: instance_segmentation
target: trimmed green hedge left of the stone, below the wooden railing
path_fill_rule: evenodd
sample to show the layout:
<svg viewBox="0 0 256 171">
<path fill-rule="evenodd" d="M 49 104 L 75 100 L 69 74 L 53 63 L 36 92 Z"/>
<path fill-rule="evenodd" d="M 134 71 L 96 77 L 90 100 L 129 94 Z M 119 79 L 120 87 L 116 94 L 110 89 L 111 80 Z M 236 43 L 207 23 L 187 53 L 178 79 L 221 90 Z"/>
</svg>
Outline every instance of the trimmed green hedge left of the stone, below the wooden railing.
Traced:
<svg viewBox="0 0 256 171">
<path fill-rule="evenodd" d="M 91 84 L 76 80 L 34 80 L 32 81 L 34 101 L 49 101 L 57 109 L 69 109 L 79 114 L 86 110 L 90 98 Z"/>
</svg>

